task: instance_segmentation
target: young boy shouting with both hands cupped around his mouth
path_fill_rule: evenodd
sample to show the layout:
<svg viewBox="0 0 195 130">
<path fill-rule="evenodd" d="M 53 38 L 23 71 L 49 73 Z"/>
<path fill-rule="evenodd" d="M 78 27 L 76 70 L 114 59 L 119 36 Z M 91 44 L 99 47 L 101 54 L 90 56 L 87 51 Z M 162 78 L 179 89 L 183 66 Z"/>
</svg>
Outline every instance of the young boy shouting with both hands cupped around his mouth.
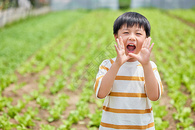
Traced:
<svg viewBox="0 0 195 130">
<path fill-rule="evenodd" d="M 126 12 L 113 26 L 117 57 L 104 60 L 94 89 L 105 98 L 100 130 L 154 130 L 151 101 L 163 92 L 161 79 L 150 54 L 150 24 L 139 13 Z"/>
</svg>

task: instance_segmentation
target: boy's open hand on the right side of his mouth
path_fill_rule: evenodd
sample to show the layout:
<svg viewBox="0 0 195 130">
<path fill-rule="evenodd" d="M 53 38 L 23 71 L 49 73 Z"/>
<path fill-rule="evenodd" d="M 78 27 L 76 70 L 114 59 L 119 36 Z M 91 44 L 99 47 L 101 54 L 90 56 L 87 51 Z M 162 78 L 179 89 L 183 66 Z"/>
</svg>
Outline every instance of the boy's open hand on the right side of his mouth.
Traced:
<svg viewBox="0 0 195 130">
<path fill-rule="evenodd" d="M 150 54 L 154 43 L 150 46 L 151 38 L 146 38 L 140 52 L 138 54 L 129 53 L 130 57 L 136 58 L 142 65 L 146 65 L 150 62 Z"/>
</svg>

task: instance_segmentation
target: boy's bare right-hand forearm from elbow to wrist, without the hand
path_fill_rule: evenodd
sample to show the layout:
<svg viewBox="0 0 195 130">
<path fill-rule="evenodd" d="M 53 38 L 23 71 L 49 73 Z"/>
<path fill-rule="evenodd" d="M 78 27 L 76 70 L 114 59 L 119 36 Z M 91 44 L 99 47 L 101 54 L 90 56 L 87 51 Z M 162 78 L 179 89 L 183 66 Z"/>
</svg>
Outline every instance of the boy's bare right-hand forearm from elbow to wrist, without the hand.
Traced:
<svg viewBox="0 0 195 130">
<path fill-rule="evenodd" d="M 143 65 L 146 93 L 150 100 L 156 101 L 159 98 L 159 87 L 150 62 Z"/>
</svg>

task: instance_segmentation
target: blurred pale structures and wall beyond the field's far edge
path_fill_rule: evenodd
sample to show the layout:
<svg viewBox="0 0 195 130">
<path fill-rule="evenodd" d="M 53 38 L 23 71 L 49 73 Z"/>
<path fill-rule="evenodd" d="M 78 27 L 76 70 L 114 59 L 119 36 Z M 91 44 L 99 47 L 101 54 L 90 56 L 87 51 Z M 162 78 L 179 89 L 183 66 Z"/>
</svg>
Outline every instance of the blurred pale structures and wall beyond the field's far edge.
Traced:
<svg viewBox="0 0 195 130">
<path fill-rule="evenodd" d="M 194 0 L 0 0 L 0 26 L 27 15 L 56 10 L 99 8 L 116 10 L 140 7 L 188 9 L 194 5 Z"/>
</svg>

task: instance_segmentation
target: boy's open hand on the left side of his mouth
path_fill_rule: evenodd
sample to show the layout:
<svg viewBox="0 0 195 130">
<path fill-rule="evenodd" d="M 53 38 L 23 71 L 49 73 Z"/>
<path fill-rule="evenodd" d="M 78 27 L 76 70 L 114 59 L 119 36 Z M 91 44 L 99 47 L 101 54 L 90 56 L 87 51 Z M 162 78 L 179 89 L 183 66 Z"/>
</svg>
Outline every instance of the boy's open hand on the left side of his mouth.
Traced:
<svg viewBox="0 0 195 130">
<path fill-rule="evenodd" d="M 118 65 L 121 66 L 131 57 L 125 54 L 125 46 L 122 37 L 120 37 L 119 39 L 117 38 L 117 46 L 116 45 L 114 46 L 117 52 L 116 63 L 118 63 Z"/>
</svg>

